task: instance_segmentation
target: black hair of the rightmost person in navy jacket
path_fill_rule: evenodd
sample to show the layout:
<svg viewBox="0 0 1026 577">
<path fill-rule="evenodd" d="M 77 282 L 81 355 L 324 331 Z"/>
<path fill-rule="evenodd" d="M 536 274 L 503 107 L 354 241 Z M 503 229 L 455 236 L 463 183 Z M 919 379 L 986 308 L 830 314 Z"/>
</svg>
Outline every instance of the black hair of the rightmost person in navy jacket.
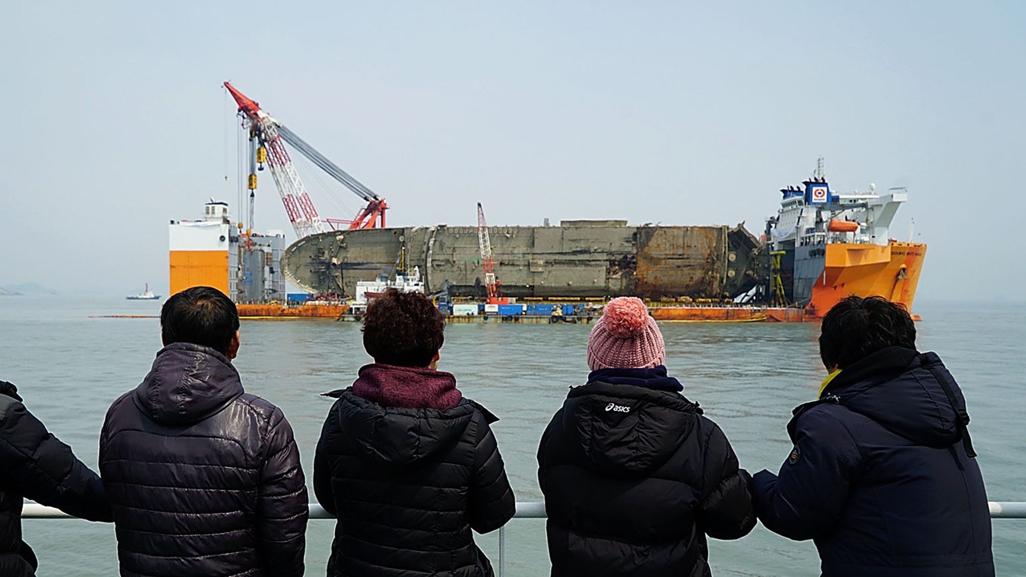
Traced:
<svg viewBox="0 0 1026 577">
<path fill-rule="evenodd" d="M 845 369 L 886 347 L 915 348 L 915 322 L 901 303 L 883 297 L 847 297 L 823 317 L 820 358 Z"/>
</svg>

